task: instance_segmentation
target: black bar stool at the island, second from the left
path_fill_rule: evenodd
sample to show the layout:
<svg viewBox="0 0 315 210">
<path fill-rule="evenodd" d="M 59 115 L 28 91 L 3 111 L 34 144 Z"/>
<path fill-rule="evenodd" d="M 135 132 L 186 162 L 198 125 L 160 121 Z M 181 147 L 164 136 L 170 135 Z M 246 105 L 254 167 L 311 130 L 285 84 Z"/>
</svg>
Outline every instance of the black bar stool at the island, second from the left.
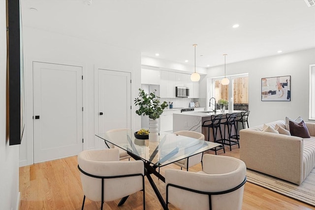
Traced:
<svg viewBox="0 0 315 210">
<path fill-rule="evenodd" d="M 236 117 L 237 113 L 232 113 L 232 114 L 226 114 L 226 121 L 221 122 L 221 124 L 224 125 L 224 138 L 221 140 L 223 145 L 229 145 L 230 146 L 230 151 L 232 150 L 231 146 L 232 145 L 238 145 L 238 148 L 240 148 L 240 143 L 238 141 L 238 136 L 237 135 L 231 135 L 232 133 L 232 127 L 234 127 L 235 133 L 237 133 L 236 129 Z M 227 127 L 227 133 L 228 133 L 228 139 L 225 138 L 225 128 Z M 235 136 L 235 137 L 234 137 Z M 231 139 L 235 138 L 236 141 L 232 141 Z M 226 143 L 228 141 L 228 143 Z"/>
</svg>

